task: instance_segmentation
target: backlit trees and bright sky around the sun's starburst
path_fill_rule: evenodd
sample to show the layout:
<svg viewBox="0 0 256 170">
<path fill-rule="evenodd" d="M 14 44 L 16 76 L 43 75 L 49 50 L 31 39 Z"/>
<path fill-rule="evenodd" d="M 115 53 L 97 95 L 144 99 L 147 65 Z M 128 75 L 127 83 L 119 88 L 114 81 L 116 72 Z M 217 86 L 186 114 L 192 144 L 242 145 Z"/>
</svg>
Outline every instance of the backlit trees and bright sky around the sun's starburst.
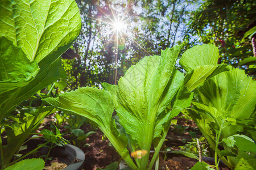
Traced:
<svg viewBox="0 0 256 170">
<path fill-rule="evenodd" d="M 73 50 L 80 57 L 63 61 L 67 82 L 73 89 L 99 86 L 102 82 L 115 84 L 116 57 L 119 79 L 144 56 L 160 54 L 161 49 L 181 44 L 192 1 L 77 0 L 77 3 L 83 25 Z M 111 28 L 117 18 L 127 24 L 118 35 L 118 44 Z"/>
</svg>

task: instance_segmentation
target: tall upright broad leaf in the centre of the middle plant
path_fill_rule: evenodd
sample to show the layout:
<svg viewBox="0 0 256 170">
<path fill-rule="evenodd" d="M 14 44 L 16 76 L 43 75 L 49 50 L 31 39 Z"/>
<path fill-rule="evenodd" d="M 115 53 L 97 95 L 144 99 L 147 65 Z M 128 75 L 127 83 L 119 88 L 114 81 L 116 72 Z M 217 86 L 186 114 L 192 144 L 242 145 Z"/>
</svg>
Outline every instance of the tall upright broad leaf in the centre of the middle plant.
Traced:
<svg viewBox="0 0 256 170">
<path fill-rule="evenodd" d="M 144 57 L 127 70 L 119 79 L 118 86 L 103 84 L 117 100 L 115 111 L 120 124 L 141 148 L 154 138 L 148 138 L 147 135 L 152 135 L 148 133 L 149 129 L 153 134 L 157 131 L 155 137 L 160 135 L 162 125 L 171 114 L 164 110 L 183 84 L 184 75 L 175 70 L 180 48 L 162 50 L 161 56 Z M 158 117 L 162 119 L 158 120 Z"/>
</svg>

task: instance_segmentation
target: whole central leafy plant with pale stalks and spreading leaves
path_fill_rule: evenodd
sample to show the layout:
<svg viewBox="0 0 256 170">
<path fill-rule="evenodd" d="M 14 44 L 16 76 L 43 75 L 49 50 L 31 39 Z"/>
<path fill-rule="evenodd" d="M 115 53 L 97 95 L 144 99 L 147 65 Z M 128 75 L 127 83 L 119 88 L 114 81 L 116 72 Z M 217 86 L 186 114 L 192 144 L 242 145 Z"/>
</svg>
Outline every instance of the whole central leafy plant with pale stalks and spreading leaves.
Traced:
<svg viewBox="0 0 256 170">
<path fill-rule="evenodd" d="M 184 76 L 175 69 L 181 46 L 162 50 L 161 56 L 144 57 L 127 70 L 118 86 L 103 83 L 105 90 L 82 87 L 59 97 L 45 99 L 67 113 L 84 116 L 97 124 L 131 169 L 152 169 L 170 128 L 171 119 L 191 105 L 192 91 L 205 80 L 228 70 L 217 65 L 214 45 L 204 45 L 204 52 L 191 54 L 192 70 Z M 190 53 L 184 53 L 188 56 Z M 212 64 L 212 59 L 216 64 Z M 187 90 L 188 89 L 188 90 Z M 117 115 L 113 116 L 113 111 Z M 151 147 L 155 153 L 149 162 Z M 133 158 L 131 158 L 131 156 Z"/>
</svg>

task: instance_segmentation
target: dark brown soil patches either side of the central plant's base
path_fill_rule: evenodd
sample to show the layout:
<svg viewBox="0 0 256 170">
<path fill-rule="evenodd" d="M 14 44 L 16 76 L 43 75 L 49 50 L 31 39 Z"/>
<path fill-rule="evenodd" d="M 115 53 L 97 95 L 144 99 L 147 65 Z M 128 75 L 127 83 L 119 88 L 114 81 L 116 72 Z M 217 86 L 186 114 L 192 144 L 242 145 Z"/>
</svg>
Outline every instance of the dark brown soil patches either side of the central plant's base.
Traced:
<svg viewBox="0 0 256 170">
<path fill-rule="evenodd" d="M 191 120 L 186 120 L 183 117 L 175 117 L 177 119 L 177 125 L 184 128 L 184 131 L 177 131 L 171 126 L 168 131 L 167 141 L 165 142 L 166 147 L 170 147 L 172 150 L 179 150 L 179 146 L 184 146 L 187 141 L 191 141 L 192 137 L 188 134 L 188 131 L 195 131 L 196 136 L 200 137 L 200 131 L 197 129 L 195 123 Z M 92 131 L 90 125 L 83 125 L 81 129 L 87 133 Z M 89 145 L 80 148 L 85 153 L 85 162 L 82 169 L 86 170 L 96 170 L 105 168 L 107 165 L 118 162 L 120 159 L 119 154 L 112 147 L 111 143 L 105 138 L 104 134 L 100 130 L 97 133 L 89 135 L 86 139 L 86 143 Z M 64 132 L 64 131 L 63 131 Z M 68 139 L 68 138 L 67 138 Z M 72 143 L 71 143 L 72 144 Z M 208 164 L 214 165 L 214 161 L 205 161 Z M 179 169 L 187 170 L 193 167 L 197 163 L 196 159 L 188 158 L 180 154 L 167 154 L 166 160 L 163 160 L 163 153 L 160 153 L 159 159 L 159 169 Z M 229 168 L 224 165 L 220 165 L 222 170 L 228 170 Z"/>
</svg>

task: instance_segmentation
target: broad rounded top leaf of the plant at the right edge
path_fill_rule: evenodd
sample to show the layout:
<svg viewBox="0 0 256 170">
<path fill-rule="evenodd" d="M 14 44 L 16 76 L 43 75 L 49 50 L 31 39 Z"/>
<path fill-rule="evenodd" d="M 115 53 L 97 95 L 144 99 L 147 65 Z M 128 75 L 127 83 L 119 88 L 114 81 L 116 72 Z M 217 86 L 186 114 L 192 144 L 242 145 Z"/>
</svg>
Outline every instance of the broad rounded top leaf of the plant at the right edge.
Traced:
<svg viewBox="0 0 256 170">
<path fill-rule="evenodd" d="M 198 88 L 199 103 L 218 110 L 223 118 L 245 120 L 253 113 L 256 103 L 256 82 L 240 69 L 216 75 Z"/>
</svg>

